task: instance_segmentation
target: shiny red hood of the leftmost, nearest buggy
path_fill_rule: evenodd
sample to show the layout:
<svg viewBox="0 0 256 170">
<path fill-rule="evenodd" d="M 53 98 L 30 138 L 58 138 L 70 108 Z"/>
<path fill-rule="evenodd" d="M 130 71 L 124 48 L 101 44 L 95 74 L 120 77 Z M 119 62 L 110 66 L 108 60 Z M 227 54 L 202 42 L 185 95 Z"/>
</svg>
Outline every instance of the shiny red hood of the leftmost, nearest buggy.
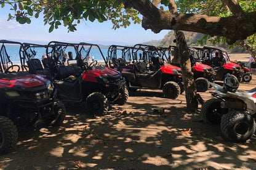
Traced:
<svg viewBox="0 0 256 170">
<path fill-rule="evenodd" d="M 47 79 L 44 79 L 44 77 L 41 77 L 40 75 L 25 75 L 23 77 L 2 78 L 0 79 L 0 88 L 33 88 L 44 85 L 46 81 Z"/>
</svg>

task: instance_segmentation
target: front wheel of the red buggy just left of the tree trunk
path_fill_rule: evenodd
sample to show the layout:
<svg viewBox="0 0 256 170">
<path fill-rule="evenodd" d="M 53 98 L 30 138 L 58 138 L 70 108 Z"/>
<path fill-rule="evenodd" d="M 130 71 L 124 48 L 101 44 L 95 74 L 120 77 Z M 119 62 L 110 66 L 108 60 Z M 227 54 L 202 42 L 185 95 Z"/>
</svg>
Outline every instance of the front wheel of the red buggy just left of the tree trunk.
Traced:
<svg viewBox="0 0 256 170">
<path fill-rule="evenodd" d="M 166 98 L 176 99 L 180 95 L 180 86 L 175 82 L 167 82 L 162 87 L 162 93 Z"/>
</svg>

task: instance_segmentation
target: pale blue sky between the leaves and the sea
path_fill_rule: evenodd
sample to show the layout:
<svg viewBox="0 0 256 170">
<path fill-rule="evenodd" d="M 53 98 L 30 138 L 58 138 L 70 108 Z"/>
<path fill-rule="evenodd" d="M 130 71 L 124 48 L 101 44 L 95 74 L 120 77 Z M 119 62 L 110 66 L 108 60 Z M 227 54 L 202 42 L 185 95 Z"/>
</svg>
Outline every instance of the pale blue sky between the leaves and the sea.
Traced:
<svg viewBox="0 0 256 170">
<path fill-rule="evenodd" d="M 112 29 L 111 21 L 98 23 L 81 21 L 77 31 L 68 33 L 68 29 L 60 26 L 49 33 L 49 25 L 44 25 L 42 14 L 38 19 L 32 18 L 31 23 L 20 25 L 15 20 L 7 21 L 10 10 L 0 8 L 0 39 L 20 42 L 42 43 L 50 41 L 89 42 L 102 45 L 134 45 L 151 40 L 161 40 L 169 33 L 163 30 L 158 34 L 150 29 L 145 30 L 141 25 L 130 24 L 127 28 Z"/>
</svg>

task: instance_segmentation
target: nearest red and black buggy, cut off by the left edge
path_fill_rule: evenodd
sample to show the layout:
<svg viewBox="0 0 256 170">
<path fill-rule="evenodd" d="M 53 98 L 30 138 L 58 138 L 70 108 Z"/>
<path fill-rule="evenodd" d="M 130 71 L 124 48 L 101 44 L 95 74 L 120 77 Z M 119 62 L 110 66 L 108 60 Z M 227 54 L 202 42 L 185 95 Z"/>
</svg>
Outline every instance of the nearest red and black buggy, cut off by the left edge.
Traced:
<svg viewBox="0 0 256 170">
<path fill-rule="evenodd" d="M 41 123 L 60 125 L 65 118 L 65 107 L 56 99 L 57 89 L 50 80 L 36 74 L 33 68 L 14 64 L 7 53 L 20 45 L 18 53 L 26 53 L 23 45 L 14 41 L 0 41 L 0 154 L 14 149 L 18 131 Z M 30 63 L 29 58 L 20 58 Z"/>
</svg>

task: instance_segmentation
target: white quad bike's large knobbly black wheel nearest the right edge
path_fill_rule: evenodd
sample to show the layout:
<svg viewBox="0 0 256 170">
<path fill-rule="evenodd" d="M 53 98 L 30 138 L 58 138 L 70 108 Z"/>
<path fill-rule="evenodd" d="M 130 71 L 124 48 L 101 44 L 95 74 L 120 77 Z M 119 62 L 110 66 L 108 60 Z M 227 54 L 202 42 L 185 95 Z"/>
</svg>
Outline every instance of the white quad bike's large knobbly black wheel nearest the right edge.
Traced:
<svg viewBox="0 0 256 170">
<path fill-rule="evenodd" d="M 223 115 L 220 130 L 226 141 L 246 142 L 255 133 L 255 120 L 246 112 L 231 110 Z"/>
</svg>

